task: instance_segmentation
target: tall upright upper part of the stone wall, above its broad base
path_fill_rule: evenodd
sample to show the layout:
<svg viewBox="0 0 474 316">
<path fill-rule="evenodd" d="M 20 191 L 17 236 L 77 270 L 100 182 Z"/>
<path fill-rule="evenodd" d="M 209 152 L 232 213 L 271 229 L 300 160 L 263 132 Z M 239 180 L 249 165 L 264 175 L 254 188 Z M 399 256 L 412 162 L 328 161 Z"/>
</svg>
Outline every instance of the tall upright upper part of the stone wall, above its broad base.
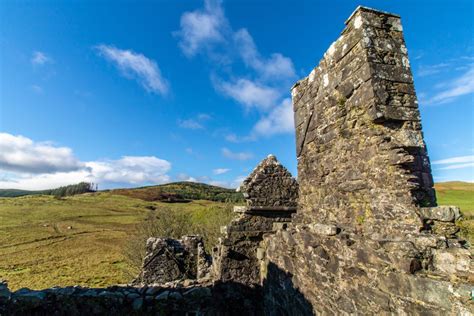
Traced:
<svg viewBox="0 0 474 316">
<path fill-rule="evenodd" d="M 436 204 L 400 18 L 359 9 L 292 89 L 300 214 L 417 231 Z"/>
</svg>

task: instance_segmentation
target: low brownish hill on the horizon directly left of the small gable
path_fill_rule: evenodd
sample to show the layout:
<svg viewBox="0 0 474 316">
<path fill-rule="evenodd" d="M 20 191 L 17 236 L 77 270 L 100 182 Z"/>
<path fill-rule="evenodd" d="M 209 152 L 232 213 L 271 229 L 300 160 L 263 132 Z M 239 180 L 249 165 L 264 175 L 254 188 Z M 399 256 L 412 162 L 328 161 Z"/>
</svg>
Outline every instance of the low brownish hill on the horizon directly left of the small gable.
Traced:
<svg viewBox="0 0 474 316">
<path fill-rule="evenodd" d="M 114 189 L 111 194 L 125 195 L 145 201 L 186 202 L 209 200 L 218 202 L 242 202 L 242 193 L 232 189 L 195 182 L 174 182 L 132 189 Z"/>
</svg>

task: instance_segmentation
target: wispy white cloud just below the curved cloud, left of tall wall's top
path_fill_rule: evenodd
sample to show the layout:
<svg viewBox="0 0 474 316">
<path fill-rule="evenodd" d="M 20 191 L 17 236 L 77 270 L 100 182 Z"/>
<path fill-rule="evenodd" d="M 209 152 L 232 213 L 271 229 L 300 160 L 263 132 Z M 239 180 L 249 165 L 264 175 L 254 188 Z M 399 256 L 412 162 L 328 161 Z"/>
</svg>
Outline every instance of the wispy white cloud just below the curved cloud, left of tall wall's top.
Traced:
<svg viewBox="0 0 474 316">
<path fill-rule="evenodd" d="M 253 82 L 248 79 L 238 79 L 234 82 L 217 82 L 214 80 L 218 90 L 230 96 L 247 108 L 256 107 L 260 110 L 268 110 L 278 100 L 280 92 L 274 88 Z"/>
</svg>

